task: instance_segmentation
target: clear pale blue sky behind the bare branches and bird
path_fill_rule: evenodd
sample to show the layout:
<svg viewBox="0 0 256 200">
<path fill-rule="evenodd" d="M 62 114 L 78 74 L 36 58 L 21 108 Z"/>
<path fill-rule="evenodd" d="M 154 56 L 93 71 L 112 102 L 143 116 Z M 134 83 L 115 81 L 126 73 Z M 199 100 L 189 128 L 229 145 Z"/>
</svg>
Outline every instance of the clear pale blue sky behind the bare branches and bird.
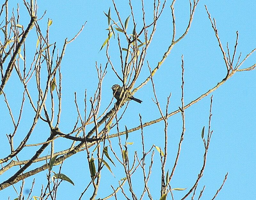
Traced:
<svg viewBox="0 0 256 200">
<path fill-rule="evenodd" d="M 29 22 L 29 16 L 22 3 L 23 1 L 19 0 L 18 2 L 20 3 L 20 24 L 26 27 Z M 16 6 L 16 3 L 17 1 L 10 0 L 10 8 L 11 6 Z M 132 3 L 138 21 L 137 27 L 141 27 L 141 3 L 140 1 L 132 1 Z M 164 52 L 171 43 L 172 15 L 170 4 L 171 1 L 167 1 L 161 19 L 158 21 L 154 39 L 148 49 L 146 60 L 150 63 L 151 68 L 154 68 L 161 60 Z M 165 107 L 169 93 L 172 93 L 169 112 L 172 112 L 181 106 L 180 85 L 182 54 L 184 55 L 185 67 L 185 104 L 188 104 L 210 88 L 214 87 L 226 75 L 226 66 L 223 56 L 205 11 L 204 4 L 207 5 L 211 16 L 216 19 L 223 47 L 226 47 L 228 42 L 231 52 L 233 52 L 236 41 L 236 31 L 238 31 L 239 40 L 237 55 L 242 52 L 241 59 L 243 59 L 253 48 L 256 48 L 256 33 L 254 30 L 256 24 L 255 1 L 232 1 L 231 3 L 231 1 L 228 0 L 201 0 L 196 8 L 194 20 L 188 34 L 175 45 L 171 54 L 154 77 L 156 93 L 162 108 Z M 124 22 L 130 15 L 128 1 L 124 2 L 118 0 L 116 1 L 116 5 Z M 76 91 L 79 107 L 83 110 L 85 89 L 87 89 L 87 95 L 90 97 L 93 96 L 97 87 L 98 79 L 95 62 L 97 61 L 98 64 L 102 63 L 102 65 L 105 66 L 107 61 L 105 48 L 100 52 L 99 50 L 108 33 L 108 31 L 105 30 L 108 28 L 108 20 L 103 11 L 108 12 L 109 7 L 111 7 L 112 17 L 117 20 L 117 17 L 114 14 L 112 1 L 38 1 L 38 16 L 41 16 L 44 13 L 44 10 L 47 11 L 44 18 L 38 23 L 40 24 L 41 29 L 45 30 L 48 18 L 52 19 L 53 22 L 50 26 L 50 40 L 52 41 L 51 43 L 56 41 L 56 46 L 59 49 L 62 49 L 65 38 L 68 37 L 68 39 L 71 39 L 79 31 L 84 22 L 87 21 L 83 32 L 75 41 L 68 45 L 61 64 L 63 90 L 60 129 L 64 133 L 70 132 L 76 122 L 77 113 L 74 103 L 74 92 Z M 149 14 L 152 14 L 153 1 L 150 1 L 150 3 L 145 1 L 145 8 L 146 13 L 148 12 Z M 148 22 L 151 17 L 149 14 L 147 15 Z M 180 34 L 184 32 L 188 23 L 189 1 L 177 0 L 175 4 L 175 14 L 177 28 L 176 37 L 179 37 Z M 1 19 L 1 21 L 2 20 L 3 19 Z M 128 31 L 131 33 L 132 28 L 132 22 L 130 21 Z M 43 33 L 45 33 L 45 31 L 43 31 Z M 1 38 L 2 37 L 3 34 L 1 35 Z M 29 33 L 27 39 L 26 49 L 28 60 L 33 59 L 33 54 L 36 49 L 36 40 L 35 30 L 33 30 Z M 120 66 L 119 50 L 116 44 L 117 39 L 111 38 L 109 53 L 113 63 L 118 69 L 118 66 Z M 255 62 L 256 56 L 252 55 L 244 63 L 242 68 L 249 67 Z M 148 77 L 148 75 L 148 68 L 145 65 L 142 69 L 141 77 L 137 81 L 137 85 Z M 205 185 L 202 199 L 211 199 L 214 196 L 227 172 L 229 173 L 228 179 L 217 199 L 249 200 L 256 196 L 256 190 L 254 189 L 256 183 L 255 78 L 255 70 L 237 72 L 224 85 L 220 86 L 220 88 L 212 93 L 213 115 L 211 128 L 214 131 L 204 175 L 198 184 L 196 192 L 196 196 L 198 196 L 200 190 Z M 17 82 L 19 85 L 16 84 Z M 102 85 L 101 111 L 105 109 L 112 98 L 110 87 L 116 83 L 120 84 L 120 81 L 116 78 L 110 66 L 108 66 L 108 73 L 104 78 Z M 30 90 L 32 87 L 33 85 L 30 86 Z M 16 72 L 13 71 L 12 77 L 5 87 L 5 93 L 16 119 L 19 114 L 22 92 L 22 85 L 17 78 Z M 13 98 L 13 96 L 15 96 L 15 98 Z M 143 103 L 138 104 L 136 102 L 130 102 L 126 115 L 119 124 L 122 131 L 124 130 L 124 125 L 126 125 L 128 129 L 139 125 L 139 113 L 142 116 L 142 122 L 148 122 L 160 117 L 158 109 L 151 99 L 154 94 L 150 82 L 134 96 L 143 100 Z M 173 188 L 190 189 L 196 181 L 197 174 L 200 172 L 203 164 L 204 145 L 201 139 L 201 130 L 203 126 L 207 127 L 208 125 L 209 109 L 210 95 L 185 110 L 186 132 L 182 143 L 182 151 L 178 167 L 171 181 Z M 27 98 L 23 121 L 20 124 L 17 137 L 14 140 L 14 142 L 16 142 L 15 145 L 18 145 L 20 139 L 26 135 L 26 131 L 30 127 L 29 122 L 33 120 L 33 115 L 34 113 L 31 114 L 31 108 Z M 172 169 L 177 154 L 178 142 L 182 131 L 180 114 L 170 117 L 168 123 L 169 149 L 166 171 L 167 169 Z M 6 126 L 6 124 L 12 124 L 12 122 L 3 95 L 1 95 L 1 158 L 9 153 L 9 144 L 5 134 L 9 134 L 13 131 L 12 126 Z M 90 127 L 88 127 L 87 130 L 89 129 Z M 116 133 L 116 130 L 111 130 L 110 134 L 112 133 Z M 152 144 L 156 144 L 162 148 L 164 147 L 163 122 L 145 127 L 144 134 L 146 150 L 148 150 Z M 44 122 L 39 122 L 36 126 L 33 138 L 31 138 L 28 143 L 43 142 L 48 136 L 49 128 L 47 128 L 47 125 L 44 124 Z M 125 137 L 122 137 L 122 139 L 124 141 Z M 130 133 L 128 140 L 129 142 L 134 142 L 134 144 L 129 147 L 130 156 L 132 157 L 134 151 L 138 151 L 138 154 L 141 156 L 140 131 Z M 68 144 L 69 143 L 70 141 L 68 141 Z M 117 143 L 117 139 L 114 138 L 112 143 Z M 63 139 L 56 140 L 55 151 L 63 150 L 63 144 L 67 144 L 67 141 Z M 116 151 L 118 151 L 118 146 L 115 146 Z M 30 153 L 37 148 L 38 147 L 31 147 L 30 149 L 25 150 L 24 153 L 19 156 L 19 159 L 23 160 L 30 158 Z M 50 149 L 47 149 L 43 155 L 49 153 L 49 150 Z M 149 164 L 149 160 L 147 161 L 147 164 Z M 116 160 L 115 163 L 117 163 Z M 35 164 L 35 166 L 41 165 L 41 163 Z M 97 198 L 108 196 L 112 192 L 110 184 L 116 188 L 118 186 L 118 180 L 124 177 L 124 172 L 120 170 L 120 165 L 114 167 L 110 163 L 110 166 L 113 173 L 116 175 L 116 178 L 114 178 L 106 168 L 103 170 L 101 176 L 102 183 Z M 29 170 L 31 169 L 33 168 L 30 167 Z M 58 166 L 53 168 L 55 172 L 57 172 L 58 169 Z M 14 170 L 10 171 L 11 172 L 8 171 L 0 176 L 1 182 L 15 172 Z M 90 181 L 90 172 L 88 170 L 85 152 L 77 153 L 75 156 L 65 160 L 61 172 L 72 179 L 75 183 L 75 187 L 68 182 L 63 182 L 60 186 L 57 199 L 78 199 L 81 192 Z M 35 176 L 36 184 L 32 195 L 38 196 L 40 194 L 41 185 L 46 184 L 46 173 L 47 172 L 44 171 Z M 139 181 L 139 177 L 141 177 L 142 180 L 141 171 L 138 171 L 137 174 L 132 177 L 135 192 L 138 196 L 140 196 L 143 188 L 143 182 Z M 33 178 L 34 177 L 30 177 L 26 179 L 25 189 L 30 188 Z M 155 153 L 153 172 L 149 181 L 149 189 L 154 199 L 160 198 L 160 180 L 160 158 L 158 153 Z M 20 183 L 16 184 L 16 189 L 19 189 L 19 186 Z M 124 188 L 128 191 L 127 184 Z M 183 197 L 188 192 L 188 189 L 185 191 L 174 191 L 174 199 Z M 8 196 L 11 197 L 10 199 L 17 197 L 12 187 L 0 191 L 1 199 L 7 199 Z M 120 191 L 118 192 L 118 197 L 118 199 L 124 199 L 124 196 L 122 196 Z M 88 198 L 88 196 L 84 196 L 84 199 Z M 171 196 L 169 195 L 168 199 L 170 198 Z M 145 196 L 145 199 L 147 199 L 147 196 Z"/>
</svg>

